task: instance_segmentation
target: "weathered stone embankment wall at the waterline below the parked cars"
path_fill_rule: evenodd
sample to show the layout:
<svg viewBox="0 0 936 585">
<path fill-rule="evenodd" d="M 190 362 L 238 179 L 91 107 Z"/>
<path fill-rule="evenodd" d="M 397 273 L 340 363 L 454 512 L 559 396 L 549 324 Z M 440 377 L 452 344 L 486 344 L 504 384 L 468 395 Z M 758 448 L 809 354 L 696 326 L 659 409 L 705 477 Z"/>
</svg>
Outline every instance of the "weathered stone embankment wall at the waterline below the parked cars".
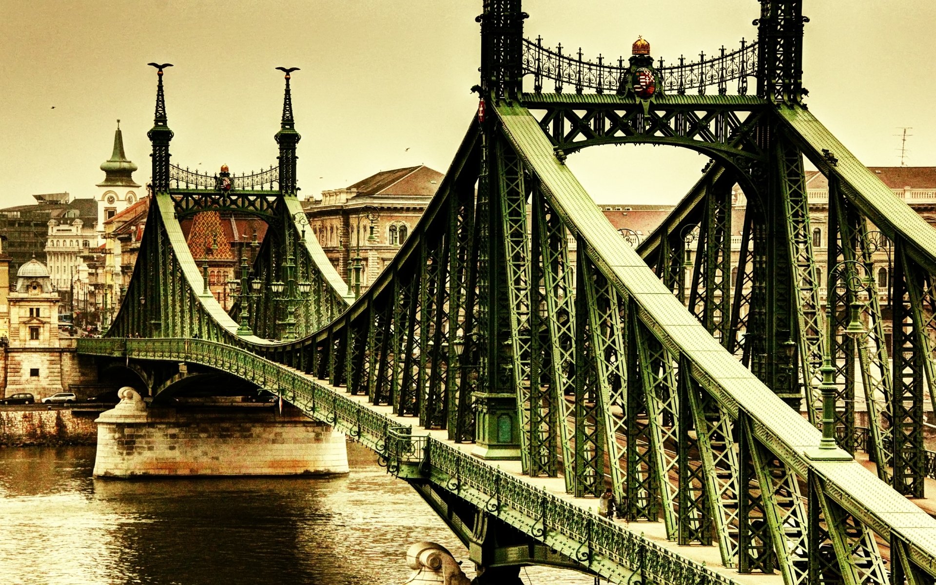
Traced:
<svg viewBox="0 0 936 585">
<path fill-rule="evenodd" d="M 95 445 L 98 414 L 71 410 L 0 412 L 0 446 Z"/>
</svg>

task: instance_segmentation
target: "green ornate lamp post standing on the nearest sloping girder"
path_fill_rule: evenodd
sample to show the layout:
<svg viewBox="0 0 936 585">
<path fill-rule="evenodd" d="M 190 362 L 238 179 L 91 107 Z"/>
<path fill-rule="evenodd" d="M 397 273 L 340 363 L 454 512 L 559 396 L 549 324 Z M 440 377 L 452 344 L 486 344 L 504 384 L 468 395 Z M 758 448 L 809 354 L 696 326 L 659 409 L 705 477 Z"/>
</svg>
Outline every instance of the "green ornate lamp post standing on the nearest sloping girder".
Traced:
<svg viewBox="0 0 936 585">
<path fill-rule="evenodd" d="M 834 287 L 840 278 L 842 284 L 852 294 L 856 294 L 865 285 L 865 282 L 857 275 L 856 269 L 859 266 L 861 266 L 861 263 L 856 260 L 842 260 L 828 271 L 826 285 L 826 349 L 823 352 L 822 368 L 820 369 L 822 384 L 819 385 L 819 391 L 822 393 L 822 441 L 820 441 L 817 448 L 813 447 L 806 451 L 806 456 L 812 460 L 848 461 L 852 459 L 852 456 L 840 449 L 835 442 L 835 366 L 832 365 L 835 320 L 833 319 L 834 307 L 832 305 Z M 847 272 L 845 272 L 846 270 Z M 853 338 L 865 335 L 867 331 L 861 324 L 859 316 L 861 303 L 858 300 L 853 300 L 848 311 L 849 321 L 844 330 L 845 335 Z"/>
</svg>

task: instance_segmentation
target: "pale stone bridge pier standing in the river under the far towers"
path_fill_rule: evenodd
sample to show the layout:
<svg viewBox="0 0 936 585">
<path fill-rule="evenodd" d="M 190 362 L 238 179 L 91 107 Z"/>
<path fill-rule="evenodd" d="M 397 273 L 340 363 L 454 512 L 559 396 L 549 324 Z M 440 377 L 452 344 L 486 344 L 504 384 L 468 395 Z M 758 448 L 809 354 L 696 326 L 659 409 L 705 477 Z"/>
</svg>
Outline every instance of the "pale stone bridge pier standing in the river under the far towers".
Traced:
<svg viewBox="0 0 936 585">
<path fill-rule="evenodd" d="M 133 388 L 97 423 L 95 476 L 326 475 L 348 471 L 344 434 L 271 405 L 168 406 Z"/>
</svg>

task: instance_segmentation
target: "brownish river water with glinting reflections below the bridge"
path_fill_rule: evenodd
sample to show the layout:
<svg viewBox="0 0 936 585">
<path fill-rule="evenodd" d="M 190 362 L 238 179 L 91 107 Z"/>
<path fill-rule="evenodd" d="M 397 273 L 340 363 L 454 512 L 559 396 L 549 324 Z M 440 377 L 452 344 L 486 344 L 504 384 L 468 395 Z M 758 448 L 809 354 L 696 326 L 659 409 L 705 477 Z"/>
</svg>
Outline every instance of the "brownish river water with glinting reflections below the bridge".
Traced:
<svg viewBox="0 0 936 585">
<path fill-rule="evenodd" d="M 0 584 L 393 585 L 405 552 L 438 542 L 469 577 L 467 551 L 373 453 L 320 478 L 100 480 L 95 447 L 0 448 Z M 529 567 L 525 583 L 592 585 Z"/>
</svg>

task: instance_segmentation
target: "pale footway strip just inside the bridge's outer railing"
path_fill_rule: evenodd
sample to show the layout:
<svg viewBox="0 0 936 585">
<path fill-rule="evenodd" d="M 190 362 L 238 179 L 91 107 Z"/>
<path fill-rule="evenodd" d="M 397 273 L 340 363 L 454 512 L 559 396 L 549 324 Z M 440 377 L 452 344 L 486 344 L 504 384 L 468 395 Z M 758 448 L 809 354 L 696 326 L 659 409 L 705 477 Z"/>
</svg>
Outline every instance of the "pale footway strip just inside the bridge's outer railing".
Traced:
<svg viewBox="0 0 936 585">
<path fill-rule="evenodd" d="M 331 386 L 328 380 L 323 380 L 320 378 L 314 377 L 312 374 L 301 373 L 298 370 L 293 370 L 299 375 L 304 375 L 305 377 L 314 380 L 316 385 L 329 388 L 330 390 L 344 394 L 344 397 L 348 400 L 358 402 L 362 406 L 365 406 L 369 410 L 379 412 L 384 417 L 388 417 L 392 420 L 395 420 L 400 423 L 402 427 L 408 427 L 414 423 L 413 417 L 398 417 L 392 411 L 390 406 L 380 406 L 374 405 L 367 401 L 367 396 L 356 395 L 351 396 L 344 393 L 345 389 L 341 387 Z M 445 443 L 447 446 L 458 449 L 466 455 L 471 454 L 472 448 L 475 446 L 472 443 L 455 443 L 448 439 L 448 431 L 426 431 L 423 429 L 419 430 L 420 434 L 428 434 L 433 439 Z M 540 490 L 546 490 L 548 493 L 560 498 L 561 500 L 568 502 L 572 505 L 577 505 L 583 510 L 590 511 L 596 514 L 596 509 L 598 506 L 598 501 L 595 498 L 577 498 L 573 494 L 565 492 L 565 482 L 562 477 L 530 477 L 529 475 L 523 475 L 520 470 L 520 461 L 490 461 L 491 465 L 500 467 L 502 471 L 513 475 L 520 481 L 528 483 Z M 710 547 L 704 546 L 680 546 L 673 541 L 666 539 L 666 529 L 664 523 L 661 522 L 626 522 L 622 519 L 615 520 L 616 524 L 630 530 L 634 534 L 643 535 L 645 538 L 651 540 L 653 543 L 659 545 L 660 547 L 673 550 L 678 552 L 680 556 L 683 556 L 687 559 L 695 561 L 696 563 L 705 563 L 705 565 L 713 572 L 718 573 L 719 575 L 729 578 L 737 583 L 744 583 L 747 585 L 781 585 L 783 582 L 781 574 L 774 573 L 773 575 L 764 575 L 760 573 L 753 574 L 740 574 L 737 569 L 725 567 L 722 564 L 722 558 L 719 553 L 718 545 L 713 544 Z"/>
</svg>

